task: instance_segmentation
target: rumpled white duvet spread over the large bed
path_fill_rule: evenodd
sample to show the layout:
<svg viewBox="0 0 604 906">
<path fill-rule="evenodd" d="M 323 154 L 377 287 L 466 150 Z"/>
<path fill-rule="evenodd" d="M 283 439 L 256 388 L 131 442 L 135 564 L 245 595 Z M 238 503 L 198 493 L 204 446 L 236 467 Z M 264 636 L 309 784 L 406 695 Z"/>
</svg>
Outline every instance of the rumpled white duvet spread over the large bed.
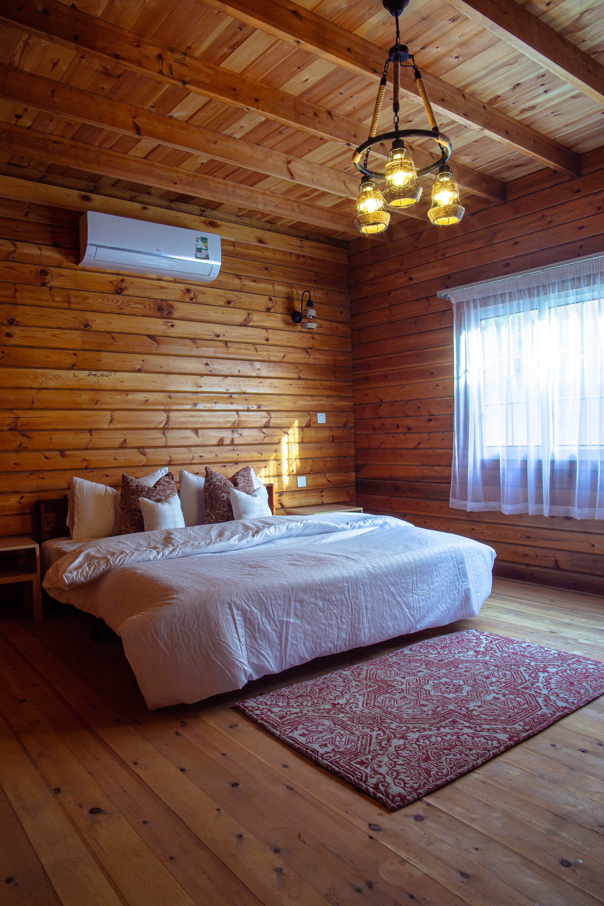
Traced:
<svg viewBox="0 0 604 906">
<path fill-rule="evenodd" d="M 270 516 L 82 542 L 46 573 L 118 632 L 149 708 L 473 617 L 494 551 L 389 516 Z"/>
</svg>

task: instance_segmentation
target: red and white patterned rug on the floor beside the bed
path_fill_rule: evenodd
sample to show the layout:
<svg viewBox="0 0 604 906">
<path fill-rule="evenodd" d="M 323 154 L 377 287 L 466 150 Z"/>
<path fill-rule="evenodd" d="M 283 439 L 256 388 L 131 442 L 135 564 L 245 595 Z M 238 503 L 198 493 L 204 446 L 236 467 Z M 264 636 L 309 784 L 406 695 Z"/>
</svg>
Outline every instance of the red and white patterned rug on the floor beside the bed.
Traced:
<svg viewBox="0 0 604 906">
<path fill-rule="evenodd" d="M 604 664 L 466 630 L 236 707 L 393 811 L 604 693 Z"/>
</svg>

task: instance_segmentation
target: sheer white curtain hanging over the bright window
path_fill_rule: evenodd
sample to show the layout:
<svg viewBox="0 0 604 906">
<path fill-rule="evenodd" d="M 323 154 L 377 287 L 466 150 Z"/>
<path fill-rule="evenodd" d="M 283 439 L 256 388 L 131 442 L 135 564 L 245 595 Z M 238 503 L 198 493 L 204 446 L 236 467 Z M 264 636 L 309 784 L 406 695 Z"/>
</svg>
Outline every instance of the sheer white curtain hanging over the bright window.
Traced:
<svg viewBox="0 0 604 906">
<path fill-rule="evenodd" d="M 604 519 L 604 257 L 449 298 L 450 505 Z"/>
</svg>

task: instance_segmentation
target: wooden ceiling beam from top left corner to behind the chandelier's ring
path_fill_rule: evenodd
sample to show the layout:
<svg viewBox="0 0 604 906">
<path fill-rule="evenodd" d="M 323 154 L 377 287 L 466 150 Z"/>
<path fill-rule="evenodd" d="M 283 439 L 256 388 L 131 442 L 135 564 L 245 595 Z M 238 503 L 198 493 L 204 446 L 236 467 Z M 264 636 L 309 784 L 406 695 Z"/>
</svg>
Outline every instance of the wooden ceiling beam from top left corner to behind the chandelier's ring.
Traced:
<svg viewBox="0 0 604 906">
<path fill-rule="evenodd" d="M 191 92 L 244 110 L 257 110 L 269 119 L 312 132 L 322 139 L 351 147 L 367 139 L 368 128 L 362 123 L 301 101 L 287 92 L 188 57 L 186 53 L 80 13 L 56 0 L 48 0 L 43 9 L 47 15 L 34 4 L 25 7 L 19 0 L 4 0 L 0 23 L 19 24 L 35 34 L 50 35 L 64 46 L 85 48 L 111 62 L 115 62 L 117 57 L 133 72 L 142 72 L 169 84 L 185 84 Z M 426 152 L 414 150 L 414 156 L 418 166 L 427 166 Z M 481 198 L 498 202 L 505 200 L 505 185 L 500 179 L 460 165 L 455 167 L 455 176 L 461 186 Z"/>
</svg>

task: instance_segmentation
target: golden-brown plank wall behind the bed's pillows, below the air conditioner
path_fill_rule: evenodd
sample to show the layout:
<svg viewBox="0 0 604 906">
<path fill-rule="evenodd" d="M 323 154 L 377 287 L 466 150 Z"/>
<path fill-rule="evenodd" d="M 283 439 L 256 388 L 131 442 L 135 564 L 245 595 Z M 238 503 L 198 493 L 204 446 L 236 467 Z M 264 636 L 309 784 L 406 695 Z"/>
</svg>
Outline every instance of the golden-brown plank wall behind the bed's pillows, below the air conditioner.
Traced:
<svg viewBox="0 0 604 906">
<path fill-rule="evenodd" d="M 278 507 L 353 501 L 346 249 L 223 240 L 216 281 L 185 284 L 78 268 L 79 217 L 0 199 L 0 536 L 72 475 L 165 465 L 252 465 Z M 307 288 L 314 333 L 290 317 Z"/>
</svg>

